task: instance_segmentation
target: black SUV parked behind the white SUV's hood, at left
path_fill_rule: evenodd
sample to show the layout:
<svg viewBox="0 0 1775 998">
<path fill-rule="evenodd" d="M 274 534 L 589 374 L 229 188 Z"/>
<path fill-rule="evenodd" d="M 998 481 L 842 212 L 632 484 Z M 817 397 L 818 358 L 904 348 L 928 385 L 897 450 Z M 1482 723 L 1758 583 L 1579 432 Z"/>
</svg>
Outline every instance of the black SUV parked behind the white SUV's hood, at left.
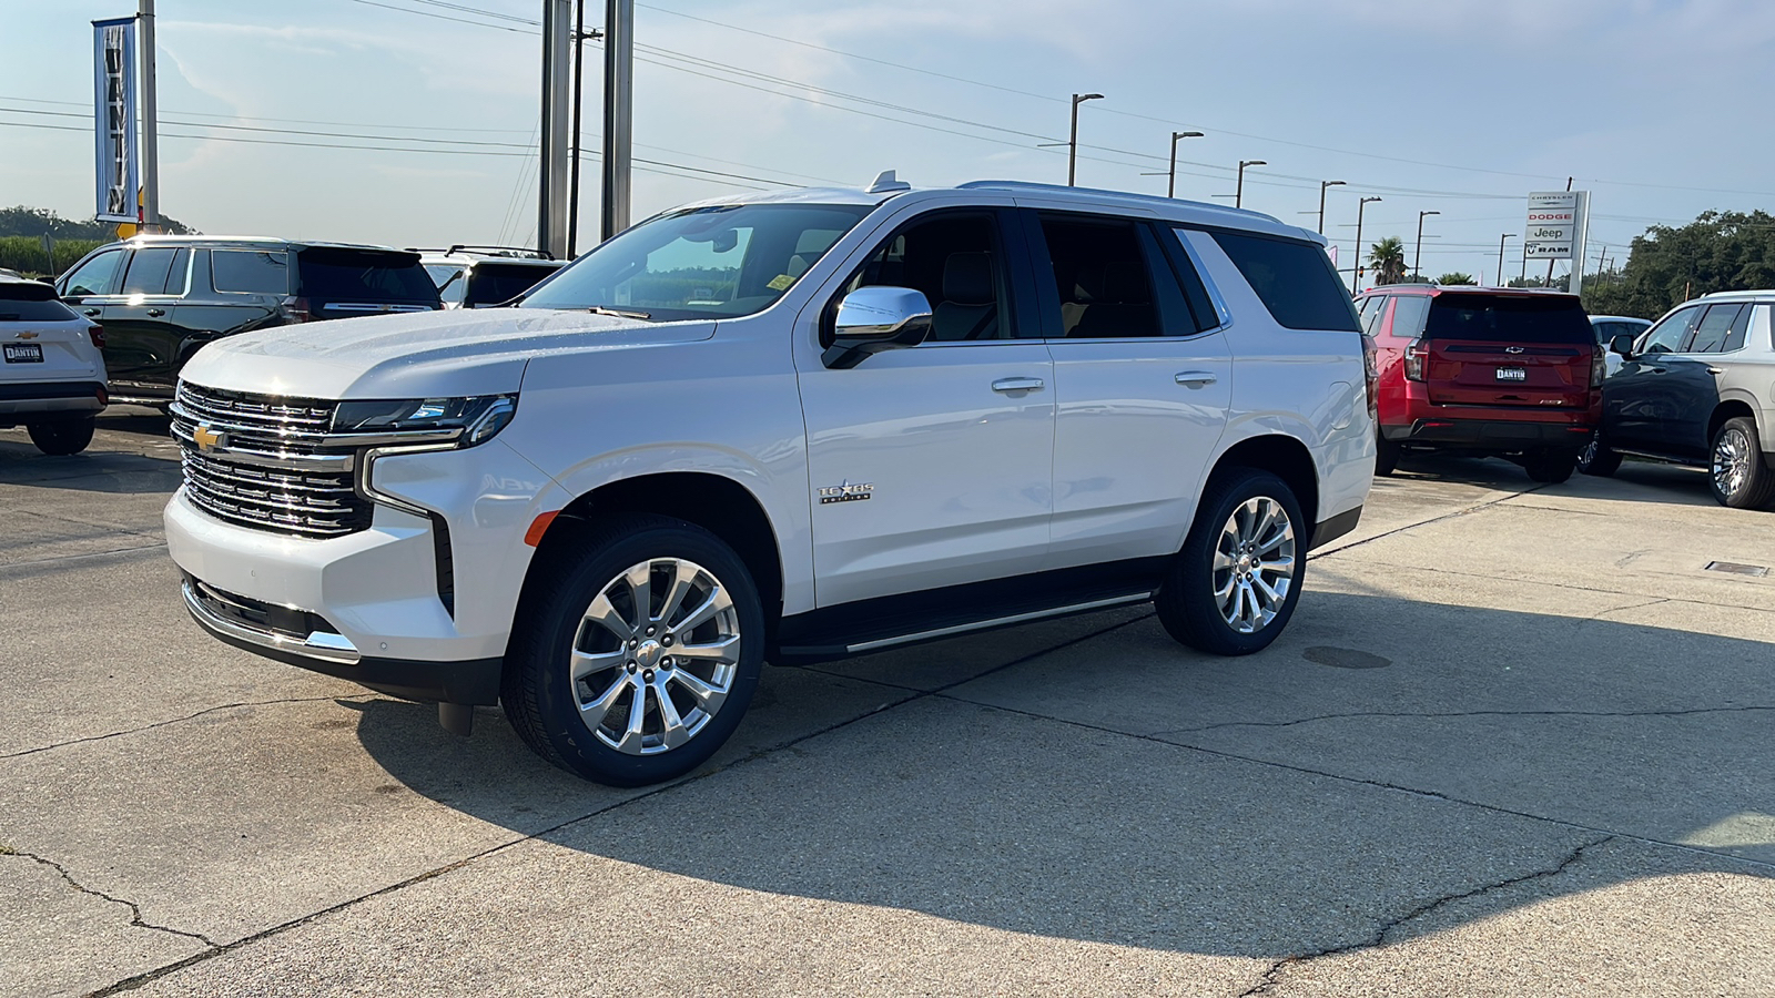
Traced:
<svg viewBox="0 0 1775 998">
<path fill-rule="evenodd" d="M 163 407 L 202 345 L 270 325 L 442 309 L 419 254 L 375 245 L 137 236 L 55 282 L 105 327 L 112 401 Z"/>
</svg>

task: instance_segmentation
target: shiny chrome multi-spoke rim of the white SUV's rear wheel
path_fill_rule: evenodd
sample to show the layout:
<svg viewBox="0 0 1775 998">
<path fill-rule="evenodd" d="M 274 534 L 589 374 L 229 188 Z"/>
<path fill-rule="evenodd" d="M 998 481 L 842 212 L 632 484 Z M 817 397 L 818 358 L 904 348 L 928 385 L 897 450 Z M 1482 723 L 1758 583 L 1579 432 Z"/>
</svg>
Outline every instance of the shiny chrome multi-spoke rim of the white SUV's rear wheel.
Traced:
<svg viewBox="0 0 1775 998">
<path fill-rule="evenodd" d="M 1294 524 L 1267 495 L 1234 508 L 1214 545 L 1214 604 L 1239 634 L 1269 625 L 1294 586 Z"/>
</svg>

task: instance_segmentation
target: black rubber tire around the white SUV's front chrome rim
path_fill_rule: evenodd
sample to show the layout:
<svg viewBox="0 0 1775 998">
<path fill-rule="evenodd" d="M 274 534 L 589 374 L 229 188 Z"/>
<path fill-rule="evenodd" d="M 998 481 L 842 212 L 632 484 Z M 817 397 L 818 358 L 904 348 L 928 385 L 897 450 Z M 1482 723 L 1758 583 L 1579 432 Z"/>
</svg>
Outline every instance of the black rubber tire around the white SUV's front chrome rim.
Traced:
<svg viewBox="0 0 1775 998">
<path fill-rule="evenodd" d="M 518 737 L 538 755 L 596 783 L 643 787 L 690 772 L 715 755 L 715 749 L 740 725 L 763 668 L 763 606 L 746 563 L 715 535 L 671 517 L 621 515 L 596 524 L 561 522 L 554 529 L 561 527 L 568 531 L 561 536 L 550 536 L 548 549 L 538 556 L 541 563 L 532 568 L 536 575 L 525 584 L 525 598 L 518 607 L 501 689 L 506 717 L 517 728 Z M 680 661 L 680 668 L 673 671 L 669 648 L 673 629 L 666 623 L 689 620 L 692 600 L 712 595 L 714 590 L 692 588 L 682 606 L 660 620 L 662 634 L 651 641 L 635 634 L 641 645 L 634 652 L 625 650 L 625 641 L 616 632 L 586 622 L 593 600 L 607 588 L 616 586 L 627 570 L 641 563 L 653 563 L 648 575 L 651 579 L 648 582 L 650 604 L 653 604 L 650 614 L 653 609 L 664 609 L 659 604 L 666 602 L 669 584 L 662 590 L 659 581 L 666 577 L 662 572 L 669 572 L 669 568 L 662 568 L 662 563 L 671 559 L 699 566 L 731 600 L 731 618 L 728 611 L 721 611 L 715 620 L 694 625 L 690 636 L 683 639 L 701 643 L 701 636 L 708 634 L 706 629 L 719 630 L 731 623 L 740 646 L 728 678 L 726 698 L 712 712 L 706 712 L 706 717 L 690 732 L 689 741 L 676 748 L 666 748 L 664 742 L 666 728 L 659 691 L 666 691 L 673 710 L 689 721 L 699 710 L 696 696 L 690 687 L 683 685 L 683 680 L 674 684 L 674 678 L 689 675 L 710 685 L 719 682 L 719 675 L 712 680 L 710 675 L 698 671 L 715 669 L 706 662 L 685 668 Z M 698 584 L 703 577 L 696 577 Z M 655 593 L 655 590 L 659 591 Z M 619 598 L 609 602 L 619 604 Z M 634 604 L 628 604 L 627 611 L 623 606 L 616 606 L 616 613 L 625 618 L 625 627 L 627 618 L 637 616 Z M 600 641 L 614 643 L 616 650 L 598 648 Z M 628 646 L 635 645 L 628 643 Z M 627 664 L 616 662 L 605 671 L 589 673 L 582 684 L 570 677 L 570 661 L 575 652 L 598 652 L 600 657 L 637 657 Z M 653 668 L 643 668 L 635 662 L 653 664 Z M 628 717 L 628 707 L 634 705 L 635 696 L 641 696 L 643 721 L 659 726 L 659 733 L 653 735 L 655 744 L 646 749 L 648 755 L 612 748 L 604 737 L 611 737 L 614 730 L 600 737 L 589 721 L 582 721 L 582 696 L 596 696 L 595 687 L 604 687 L 605 694 L 612 694 L 600 717 L 605 723 L 614 717 L 621 725 Z M 644 741 L 637 739 L 637 744 Z"/>
</svg>

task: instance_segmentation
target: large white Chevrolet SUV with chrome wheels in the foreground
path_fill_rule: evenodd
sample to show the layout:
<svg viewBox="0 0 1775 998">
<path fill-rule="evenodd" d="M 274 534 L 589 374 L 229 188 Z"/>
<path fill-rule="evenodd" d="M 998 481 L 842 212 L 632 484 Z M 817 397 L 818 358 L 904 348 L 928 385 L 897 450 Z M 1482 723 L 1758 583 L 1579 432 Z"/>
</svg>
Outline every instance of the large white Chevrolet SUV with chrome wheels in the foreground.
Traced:
<svg viewBox="0 0 1775 998">
<path fill-rule="evenodd" d="M 1143 600 L 1267 646 L 1369 494 L 1365 360 L 1310 231 L 884 174 L 666 211 L 515 309 L 206 346 L 167 540 L 224 641 L 651 783 L 765 659 Z"/>
</svg>

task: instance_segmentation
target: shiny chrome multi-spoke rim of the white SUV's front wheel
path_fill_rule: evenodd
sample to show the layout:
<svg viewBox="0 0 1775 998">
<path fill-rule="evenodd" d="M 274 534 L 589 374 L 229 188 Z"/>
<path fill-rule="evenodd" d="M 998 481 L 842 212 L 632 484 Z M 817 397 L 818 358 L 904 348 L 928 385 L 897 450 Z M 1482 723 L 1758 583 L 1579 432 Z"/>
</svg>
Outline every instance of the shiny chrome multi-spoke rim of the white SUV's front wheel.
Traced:
<svg viewBox="0 0 1775 998">
<path fill-rule="evenodd" d="M 701 565 L 655 558 L 605 582 L 573 638 L 580 721 L 628 755 L 671 751 L 721 710 L 740 661 L 740 614 Z"/>
</svg>

